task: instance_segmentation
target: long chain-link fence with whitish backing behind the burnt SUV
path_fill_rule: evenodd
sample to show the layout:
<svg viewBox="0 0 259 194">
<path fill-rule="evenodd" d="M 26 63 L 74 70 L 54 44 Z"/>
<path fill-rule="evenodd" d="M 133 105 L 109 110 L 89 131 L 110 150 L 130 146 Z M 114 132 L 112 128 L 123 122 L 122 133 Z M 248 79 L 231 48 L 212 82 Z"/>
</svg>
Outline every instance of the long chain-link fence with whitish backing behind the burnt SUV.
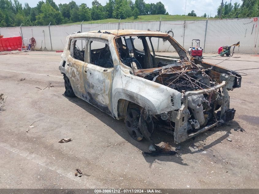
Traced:
<svg viewBox="0 0 259 194">
<path fill-rule="evenodd" d="M 207 53 L 217 52 L 219 47 L 236 44 L 238 41 L 240 41 L 240 48 L 236 48 L 235 53 L 259 53 L 257 18 L 11 27 L 0 28 L 0 35 L 4 35 L 4 37 L 22 36 L 27 41 L 34 37 L 35 50 L 56 51 L 63 50 L 66 36 L 73 32 L 109 31 L 118 28 L 169 32 L 186 50 L 191 47 L 192 39 L 199 39 L 200 46 Z M 167 43 L 161 40 L 153 44 L 154 49 L 158 52 L 174 51 L 173 47 L 167 49 Z M 194 44 L 196 43 L 194 42 Z"/>
</svg>

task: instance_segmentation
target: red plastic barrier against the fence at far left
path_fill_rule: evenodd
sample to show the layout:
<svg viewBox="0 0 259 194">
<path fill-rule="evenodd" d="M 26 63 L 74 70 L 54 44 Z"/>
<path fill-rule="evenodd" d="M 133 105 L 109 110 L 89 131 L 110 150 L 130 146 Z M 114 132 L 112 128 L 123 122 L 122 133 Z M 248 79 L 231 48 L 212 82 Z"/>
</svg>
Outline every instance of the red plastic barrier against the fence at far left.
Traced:
<svg viewBox="0 0 259 194">
<path fill-rule="evenodd" d="M 12 51 L 17 50 L 21 48 L 21 44 L 21 36 L 0 38 L 0 51 L 8 51 L 8 48 L 11 48 Z"/>
</svg>

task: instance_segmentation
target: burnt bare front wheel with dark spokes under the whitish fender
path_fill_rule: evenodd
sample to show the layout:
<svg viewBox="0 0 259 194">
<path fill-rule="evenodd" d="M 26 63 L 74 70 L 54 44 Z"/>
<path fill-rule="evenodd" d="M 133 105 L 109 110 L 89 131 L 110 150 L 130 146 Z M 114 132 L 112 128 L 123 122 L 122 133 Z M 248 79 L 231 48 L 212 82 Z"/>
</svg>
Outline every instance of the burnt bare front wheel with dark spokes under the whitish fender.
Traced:
<svg viewBox="0 0 259 194">
<path fill-rule="evenodd" d="M 125 124 L 129 135 L 132 139 L 140 141 L 143 139 L 143 134 L 139 129 L 140 111 L 135 108 L 129 108 L 127 110 Z"/>
</svg>

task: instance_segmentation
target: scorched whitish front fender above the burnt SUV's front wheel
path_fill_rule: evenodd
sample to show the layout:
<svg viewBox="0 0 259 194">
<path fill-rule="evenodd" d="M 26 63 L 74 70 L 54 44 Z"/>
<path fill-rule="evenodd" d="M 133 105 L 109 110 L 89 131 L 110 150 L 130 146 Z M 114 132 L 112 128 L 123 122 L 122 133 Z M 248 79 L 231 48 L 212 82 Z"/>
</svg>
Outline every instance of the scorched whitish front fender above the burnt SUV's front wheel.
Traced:
<svg viewBox="0 0 259 194">
<path fill-rule="evenodd" d="M 132 75 L 124 70 L 116 73 L 114 79 L 118 80 L 114 81 L 112 86 L 113 111 L 116 117 L 119 99 L 134 102 L 152 114 L 181 108 L 181 93 L 174 89 Z"/>
</svg>

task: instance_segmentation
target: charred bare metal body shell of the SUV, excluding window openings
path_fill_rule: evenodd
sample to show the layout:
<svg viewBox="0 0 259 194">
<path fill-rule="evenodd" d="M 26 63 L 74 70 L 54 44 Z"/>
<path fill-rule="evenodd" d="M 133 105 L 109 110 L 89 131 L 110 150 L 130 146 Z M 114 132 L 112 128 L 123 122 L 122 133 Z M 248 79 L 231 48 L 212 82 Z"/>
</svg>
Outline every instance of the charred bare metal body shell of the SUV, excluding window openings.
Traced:
<svg viewBox="0 0 259 194">
<path fill-rule="evenodd" d="M 67 36 L 59 70 L 69 78 L 77 97 L 82 98 L 118 120 L 125 118 L 127 107 L 130 104 L 145 108 L 153 115 L 161 116 L 161 114 L 167 113 L 170 116 L 169 120 L 175 123 L 175 143 L 180 143 L 211 127 L 218 126 L 219 122 L 224 119 L 224 114 L 229 110 L 230 103 L 227 90 L 241 87 L 241 76 L 238 73 L 194 59 L 176 40 L 166 33 L 138 30 L 112 30 L 110 32 L 108 34 L 93 31 Z M 215 77 L 217 84 L 209 88 L 180 93 L 175 89 L 144 79 L 142 76 L 136 76 L 136 74 L 140 75 L 141 73 L 144 76 L 145 73 L 159 68 L 134 70 L 125 65 L 120 60 L 116 46 L 116 39 L 123 36 L 146 36 L 149 38 L 152 36 L 167 39 L 176 49 L 180 59 L 187 61 L 185 65 L 192 65 L 193 63 L 194 65 L 204 67 L 206 72 Z M 70 40 L 80 40 L 80 38 L 87 39 L 85 62 L 73 59 L 70 54 L 70 52 L 73 52 L 73 47 L 71 51 L 69 50 Z M 93 39 L 102 39 L 109 44 L 114 67 L 103 68 L 90 64 L 89 40 Z M 153 47 L 152 44 L 151 47 Z M 170 58 L 168 56 L 165 57 Z M 190 127 L 188 125 L 188 97 L 211 93 L 218 89 L 222 90 L 220 120 L 205 127 L 200 127 L 198 131 L 188 133 Z M 171 103 L 172 97 L 173 103 Z"/>
</svg>

